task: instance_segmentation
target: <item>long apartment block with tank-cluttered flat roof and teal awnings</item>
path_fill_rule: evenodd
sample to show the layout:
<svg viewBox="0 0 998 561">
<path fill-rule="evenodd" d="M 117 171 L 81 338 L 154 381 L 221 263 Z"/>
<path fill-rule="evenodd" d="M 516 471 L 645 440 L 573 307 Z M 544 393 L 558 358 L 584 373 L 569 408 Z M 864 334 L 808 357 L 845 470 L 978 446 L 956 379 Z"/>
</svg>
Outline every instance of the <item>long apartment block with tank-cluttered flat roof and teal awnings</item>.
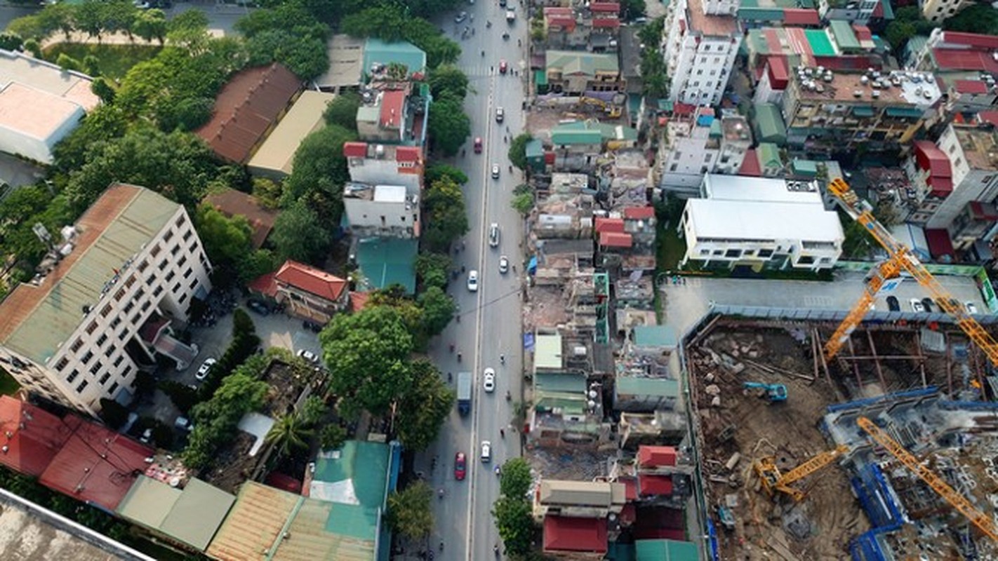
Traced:
<svg viewBox="0 0 998 561">
<path fill-rule="evenodd" d="M 923 73 L 799 68 L 782 99 L 787 143 L 812 153 L 895 149 L 934 123 L 940 97 Z"/>
</svg>

